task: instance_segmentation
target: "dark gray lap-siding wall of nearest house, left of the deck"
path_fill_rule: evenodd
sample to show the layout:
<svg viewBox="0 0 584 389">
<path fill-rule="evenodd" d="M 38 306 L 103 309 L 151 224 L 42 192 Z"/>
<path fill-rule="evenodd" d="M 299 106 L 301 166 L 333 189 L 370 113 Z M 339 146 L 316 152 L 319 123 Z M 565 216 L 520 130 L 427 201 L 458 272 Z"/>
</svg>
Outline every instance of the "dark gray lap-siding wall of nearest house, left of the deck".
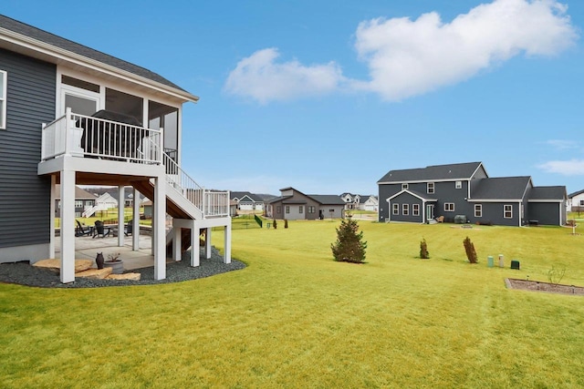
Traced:
<svg viewBox="0 0 584 389">
<path fill-rule="evenodd" d="M 41 125 L 55 119 L 56 67 L 0 49 L 7 72 L 0 130 L 0 262 L 47 258 L 50 179 L 37 175 Z"/>
</svg>

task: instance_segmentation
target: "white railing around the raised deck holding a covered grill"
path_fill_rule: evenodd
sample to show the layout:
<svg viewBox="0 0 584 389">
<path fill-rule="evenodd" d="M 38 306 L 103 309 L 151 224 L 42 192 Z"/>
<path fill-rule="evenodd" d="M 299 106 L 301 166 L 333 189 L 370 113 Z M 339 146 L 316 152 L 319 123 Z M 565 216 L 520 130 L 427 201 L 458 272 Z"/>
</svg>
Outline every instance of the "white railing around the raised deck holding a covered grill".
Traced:
<svg viewBox="0 0 584 389">
<path fill-rule="evenodd" d="M 67 113 L 43 125 L 41 160 L 59 156 L 162 163 L 162 129 Z"/>
</svg>

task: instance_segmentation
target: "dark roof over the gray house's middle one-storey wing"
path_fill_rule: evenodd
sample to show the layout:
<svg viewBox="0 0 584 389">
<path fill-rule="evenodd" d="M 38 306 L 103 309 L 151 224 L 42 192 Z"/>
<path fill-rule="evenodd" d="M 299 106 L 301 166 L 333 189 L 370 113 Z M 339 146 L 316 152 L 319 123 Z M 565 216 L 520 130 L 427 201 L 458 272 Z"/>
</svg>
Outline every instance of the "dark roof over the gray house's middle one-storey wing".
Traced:
<svg viewBox="0 0 584 389">
<path fill-rule="evenodd" d="M 472 200 L 521 200 L 531 177 L 481 179 L 472 189 Z"/>
</svg>

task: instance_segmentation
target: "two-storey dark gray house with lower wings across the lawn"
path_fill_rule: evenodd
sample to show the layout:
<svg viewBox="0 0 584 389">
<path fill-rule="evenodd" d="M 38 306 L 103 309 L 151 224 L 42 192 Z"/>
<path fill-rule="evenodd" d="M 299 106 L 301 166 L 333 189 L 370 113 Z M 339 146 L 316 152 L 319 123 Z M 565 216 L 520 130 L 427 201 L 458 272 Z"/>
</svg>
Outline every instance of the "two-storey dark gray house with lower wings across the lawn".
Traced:
<svg viewBox="0 0 584 389">
<path fill-rule="evenodd" d="M 482 162 L 391 170 L 377 182 L 380 221 L 463 220 L 506 226 L 563 225 L 566 188 L 530 177 L 489 178 Z"/>
</svg>

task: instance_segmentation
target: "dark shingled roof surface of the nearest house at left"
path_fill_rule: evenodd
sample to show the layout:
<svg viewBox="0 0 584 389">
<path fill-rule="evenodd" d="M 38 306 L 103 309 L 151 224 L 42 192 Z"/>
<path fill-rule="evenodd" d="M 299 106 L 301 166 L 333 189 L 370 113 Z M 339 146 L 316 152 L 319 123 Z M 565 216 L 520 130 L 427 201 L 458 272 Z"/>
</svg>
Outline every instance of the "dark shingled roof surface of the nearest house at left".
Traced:
<svg viewBox="0 0 584 389">
<path fill-rule="evenodd" d="M 66 38 L 56 36 L 34 26 L 26 25 L 25 23 L 19 22 L 5 15 L 0 15 L 0 27 L 10 30 L 16 34 L 35 39 L 47 45 L 67 50 L 68 52 L 77 54 L 79 56 L 85 56 L 89 59 L 99 61 L 102 64 L 109 65 L 110 67 L 117 67 L 120 70 L 130 72 L 136 76 L 148 78 L 151 81 L 161 83 L 167 87 L 173 87 L 182 90 L 183 92 L 189 93 L 182 87 L 177 86 L 168 79 L 144 67 L 139 67 L 120 58 L 116 58 L 115 56 L 110 56 L 93 48 L 89 48 L 88 46 L 79 45 L 78 43 L 70 41 Z"/>
</svg>

